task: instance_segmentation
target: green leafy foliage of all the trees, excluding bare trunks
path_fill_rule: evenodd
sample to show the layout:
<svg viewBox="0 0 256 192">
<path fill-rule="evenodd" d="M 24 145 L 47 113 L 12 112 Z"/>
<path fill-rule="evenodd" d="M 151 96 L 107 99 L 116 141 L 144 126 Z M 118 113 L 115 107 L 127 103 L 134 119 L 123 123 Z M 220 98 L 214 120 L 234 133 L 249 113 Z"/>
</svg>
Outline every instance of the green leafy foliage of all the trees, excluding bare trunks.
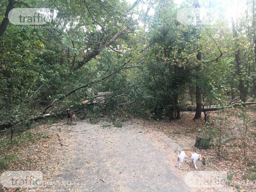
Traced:
<svg viewBox="0 0 256 192">
<path fill-rule="evenodd" d="M 256 95 L 251 43 L 255 26 L 248 25 L 250 14 L 236 21 L 238 37 L 234 38 L 225 22 L 200 27 L 179 23 L 179 8 L 192 8 L 188 1 L 180 7 L 172 1 L 141 2 L 155 14 L 147 9 L 140 11 L 138 6 L 130 9 L 131 4 L 119 0 L 26 3 L 49 7 L 60 20 L 72 17 L 79 22 L 52 20 L 45 28 L 8 24 L 0 36 L 1 122 L 15 125 L 39 115 L 56 98 L 87 83 L 91 84 L 64 97 L 50 110 L 60 113 L 73 106 L 81 117 L 90 116 L 92 121 L 101 114 L 118 112 L 125 117 L 138 114 L 161 119 L 165 113 L 185 108 L 190 100 L 188 92 L 194 94 L 196 85 L 202 90 L 205 105 L 223 107 L 231 95 L 239 94 L 239 79 L 245 82 L 252 98 Z M 2 15 L 5 8 L 3 4 Z M 129 33 L 104 47 L 124 28 Z M 239 74 L 234 62 L 237 48 L 242 62 Z M 198 51 L 202 54 L 200 62 Z M 222 57 L 212 61 L 220 51 Z M 86 60 L 90 55 L 93 57 Z M 199 65 L 198 72 L 195 69 Z M 92 104 L 98 92 L 108 92 L 105 102 L 109 105 L 82 102 Z M 21 126 L 29 128 L 29 123 L 25 121 Z"/>
</svg>

